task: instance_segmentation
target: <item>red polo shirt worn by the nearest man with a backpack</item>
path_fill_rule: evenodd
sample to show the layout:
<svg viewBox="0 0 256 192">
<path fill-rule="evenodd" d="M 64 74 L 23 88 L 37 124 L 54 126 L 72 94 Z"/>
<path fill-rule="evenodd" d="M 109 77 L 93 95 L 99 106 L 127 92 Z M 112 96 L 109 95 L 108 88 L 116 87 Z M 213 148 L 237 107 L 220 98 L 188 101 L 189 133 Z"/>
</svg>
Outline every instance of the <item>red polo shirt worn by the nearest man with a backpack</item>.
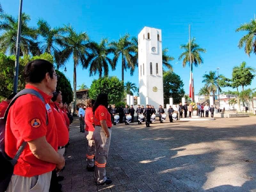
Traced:
<svg viewBox="0 0 256 192">
<path fill-rule="evenodd" d="M 26 88 L 38 91 L 44 97 L 46 104 L 38 97 L 27 94 L 20 96 L 10 108 L 5 126 L 5 152 L 12 158 L 23 141 L 36 140 L 43 136 L 56 151 L 58 147 L 55 119 L 48 104 L 51 96 L 29 84 L 26 85 Z M 46 111 L 48 125 L 46 125 Z M 27 144 L 14 166 L 13 173 L 32 177 L 50 172 L 55 167 L 56 164 L 36 158 Z"/>
</svg>

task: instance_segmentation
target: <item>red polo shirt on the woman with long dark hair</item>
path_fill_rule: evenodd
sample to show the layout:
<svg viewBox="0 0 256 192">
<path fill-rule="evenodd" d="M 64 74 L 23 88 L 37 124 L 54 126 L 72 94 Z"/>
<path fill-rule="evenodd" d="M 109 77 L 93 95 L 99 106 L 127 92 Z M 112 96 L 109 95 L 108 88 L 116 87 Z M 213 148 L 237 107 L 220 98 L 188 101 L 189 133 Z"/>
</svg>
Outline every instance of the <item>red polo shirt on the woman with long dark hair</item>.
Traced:
<svg viewBox="0 0 256 192">
<path fill-rule="evenodd" d="M 100 105 L 94 112 L 94 124 L 100 126 L 100 121 L 106 120 L 108 127 L 112 127 L 111 115 L 105 106 Z"/>
</svg>

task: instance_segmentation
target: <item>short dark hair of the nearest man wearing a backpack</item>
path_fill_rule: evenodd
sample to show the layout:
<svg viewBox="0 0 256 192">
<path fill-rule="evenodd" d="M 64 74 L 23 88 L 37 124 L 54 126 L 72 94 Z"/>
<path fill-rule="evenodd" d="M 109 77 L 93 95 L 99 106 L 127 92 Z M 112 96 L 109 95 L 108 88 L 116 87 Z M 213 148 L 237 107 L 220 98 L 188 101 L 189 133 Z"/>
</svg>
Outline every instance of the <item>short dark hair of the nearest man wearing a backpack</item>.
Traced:
<svg viewBox="0 0 256 192">
<path fill-rule="evenodd" d="M 52 63 L 43 59 L 30 61 L 24 69 L 25 81 L 27 83 L 41 83 L 45 78 L 45 74 L 49 73 L 53 78 L 54 68 Z"/>
</svg>

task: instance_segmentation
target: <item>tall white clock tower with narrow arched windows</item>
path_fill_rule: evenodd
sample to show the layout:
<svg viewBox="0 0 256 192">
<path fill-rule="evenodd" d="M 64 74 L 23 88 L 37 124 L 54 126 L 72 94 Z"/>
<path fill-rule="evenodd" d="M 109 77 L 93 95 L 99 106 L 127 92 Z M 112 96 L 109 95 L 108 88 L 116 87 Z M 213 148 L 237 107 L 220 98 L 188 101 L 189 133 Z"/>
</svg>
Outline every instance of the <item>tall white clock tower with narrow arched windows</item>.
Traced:
<svg viewBox="0 0 256 192">
<path fill-rule="evenodd" d="M 140 104 L 164 106 L 161 29 L 144 27 L 140 31 L 138 53 Z"/>
</svg>

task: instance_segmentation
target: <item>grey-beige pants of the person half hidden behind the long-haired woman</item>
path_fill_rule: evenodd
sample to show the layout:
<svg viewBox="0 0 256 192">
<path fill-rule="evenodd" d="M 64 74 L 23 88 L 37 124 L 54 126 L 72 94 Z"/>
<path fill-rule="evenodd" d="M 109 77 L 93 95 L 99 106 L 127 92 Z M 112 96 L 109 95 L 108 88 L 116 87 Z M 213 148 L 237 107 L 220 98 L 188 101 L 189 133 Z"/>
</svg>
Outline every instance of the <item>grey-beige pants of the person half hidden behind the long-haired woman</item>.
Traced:
<svg viewBox="0 0 256 192">
<path fill-rule="evenodd" d="M 95 156 L 95 141 L 93 137 L 93 131 L 85 131 L 85 137 L 88 141 L 87 145 L 87 153 L 86 153 L 86 161 L 88 167 L 94 166 L 94 159 Z"/>
</svg>

